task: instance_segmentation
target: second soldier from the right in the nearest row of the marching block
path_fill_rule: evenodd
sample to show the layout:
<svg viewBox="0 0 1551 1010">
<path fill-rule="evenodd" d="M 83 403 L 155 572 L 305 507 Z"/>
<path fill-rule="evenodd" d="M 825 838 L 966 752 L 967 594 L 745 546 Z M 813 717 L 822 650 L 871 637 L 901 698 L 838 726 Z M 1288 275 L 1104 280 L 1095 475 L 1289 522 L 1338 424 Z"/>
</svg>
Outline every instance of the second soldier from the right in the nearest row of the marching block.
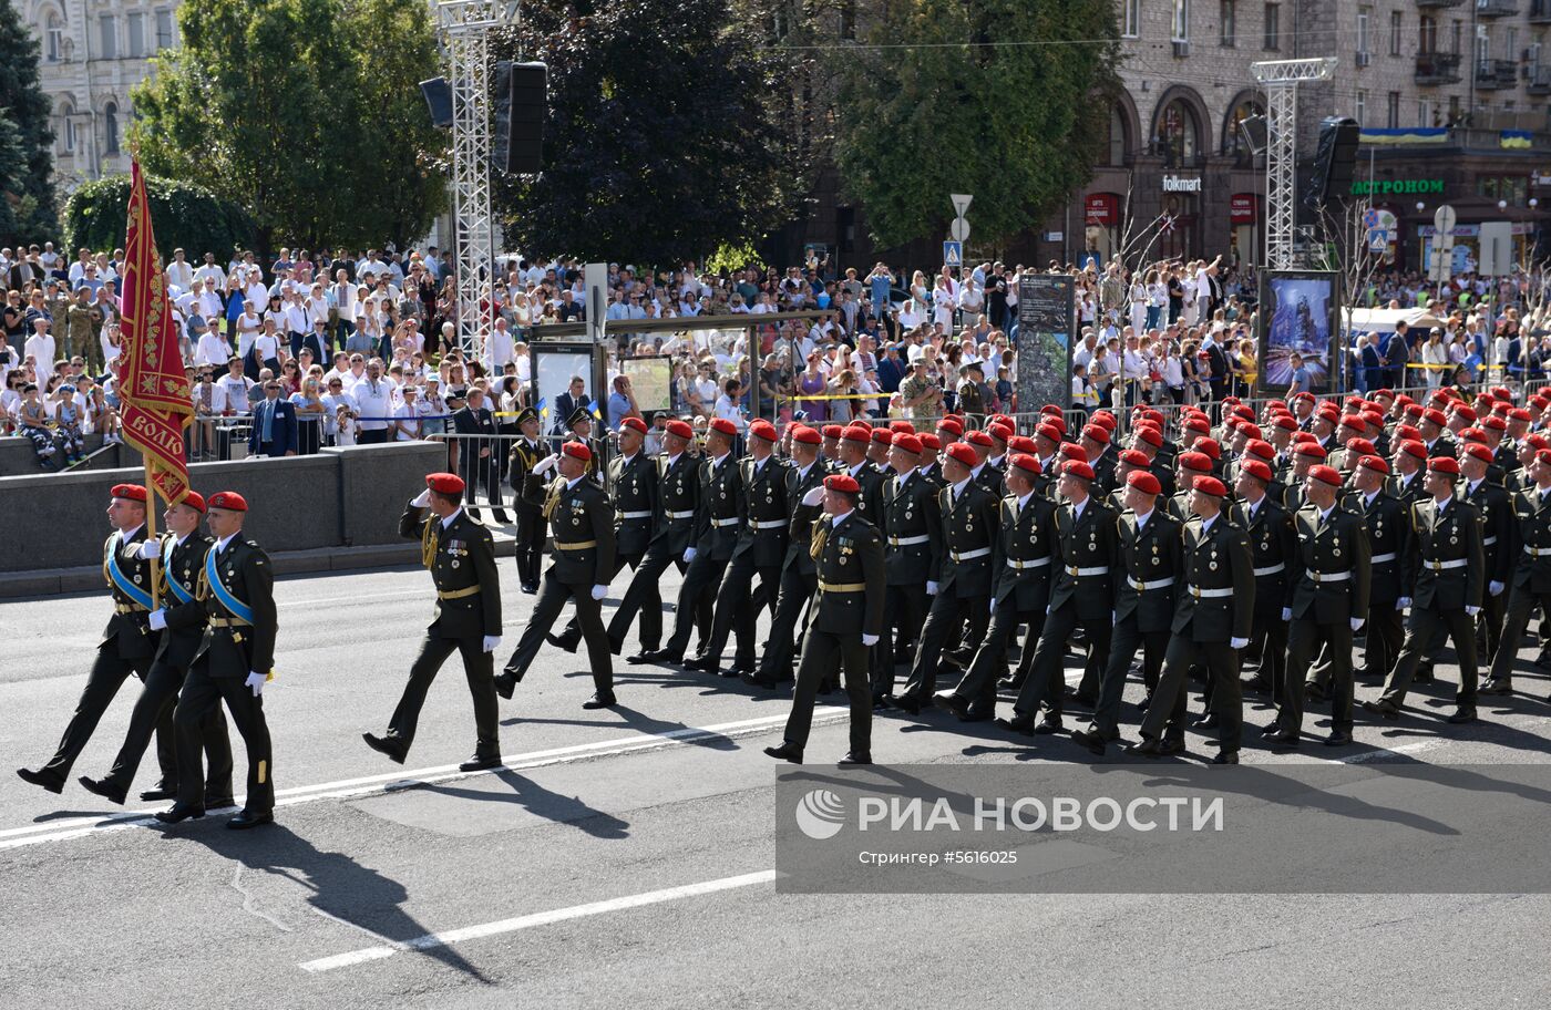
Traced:
<svg viewBox="0 0 1551 1010">
<path fill-rule="evenodd" d="M 1405 627 L 1401 658 L 1390 670 L 1383 695 L 1363 701 L 1363 707 L 1383 718 L 1396 718 L 1411 687 L 1416 666 L 1422 659 L 1439 624 L 1449 628 L 1459 659 L 1459 690 L 1450 723 L 1475 721 L 1477 653 L 1475 616 L 1481 613 L 1484 562 L 1481 555 L 1481 517 L 1475 506 L 1455 495 L 1459 462 L 1453 456 L 1427 461 L 1430 500 L 1411 506 L 1411 552 L 1407 557 L 1402 585 L 1413 586 L 1411 599 L 1401 604 L 1411 608 Z"/>
</svg>

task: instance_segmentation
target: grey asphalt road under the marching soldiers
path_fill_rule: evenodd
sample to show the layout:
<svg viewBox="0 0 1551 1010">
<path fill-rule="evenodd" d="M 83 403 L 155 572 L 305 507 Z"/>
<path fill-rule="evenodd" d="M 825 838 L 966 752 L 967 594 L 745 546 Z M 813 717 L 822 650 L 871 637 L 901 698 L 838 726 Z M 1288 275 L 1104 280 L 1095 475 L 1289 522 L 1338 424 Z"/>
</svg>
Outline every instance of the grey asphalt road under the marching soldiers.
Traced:
<svg viewBox="0 0 1551 1010">
<path fill-rule="evenodd" d="M 399 698 L 430 613 L 425 572 L 296 577 L 276 594 L 265 709 L 281 805 L 273 828 L 248 833 L 216 816 L 161 828 L 135 816 L 160 804 L 112 808 L 73 783 L 53 796 L 14 777 L 64 729 L 107 600 L 0 604 L 0 1005 L 1551 1002 L 1543 895 L 782 895 L 776 765 L 760 748 L 780 737 L 783 695 L 620 664 L 622 707 L 585 712 L 585 659 L 546 649 L 503 703 L 507 768 L 459 776 L 473 729 L 454 659 L 399 768 L 360 734 L 380 732 Z M 530 602 L 513 580 L 503 659 Z M 1419 715 L 1359 725 L 1345 757 L 1546 762 L 1551 681 L 1520 676 L 1531 694 L 1452 728 L 1430 715 L 1450 711 L 1453 672 L 1439 673 L 1413 697 Z M 126 687 L 76 774 L 107 770 L 130 700 Z M 1332 756 L 1250 748 L 1252 762 Z M 810 763 L 844 751 L 844 714 L 822 711 Z M 938 712 L 879 717 L 873 752 L 890 765 L 1086 760 L 1064 737 Z M 147 756 L 136 788 L 154 776 Z"/>
</svg>

